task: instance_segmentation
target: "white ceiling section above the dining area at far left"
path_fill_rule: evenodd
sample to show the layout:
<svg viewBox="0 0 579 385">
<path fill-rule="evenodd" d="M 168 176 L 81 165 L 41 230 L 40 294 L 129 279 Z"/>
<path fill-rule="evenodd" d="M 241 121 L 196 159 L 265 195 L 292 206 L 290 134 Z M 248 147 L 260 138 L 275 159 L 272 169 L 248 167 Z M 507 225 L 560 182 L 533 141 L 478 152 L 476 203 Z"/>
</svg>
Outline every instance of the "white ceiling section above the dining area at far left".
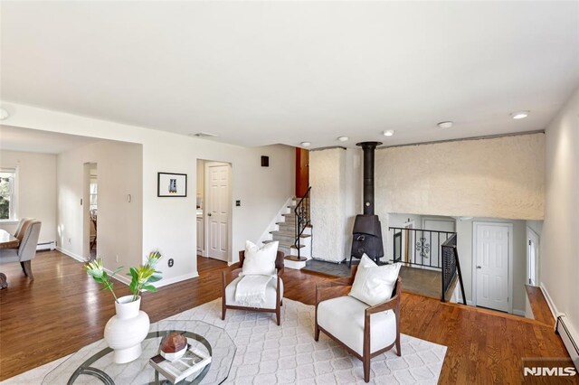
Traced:
<svg viewBox="0 0 579 385">
<path fill-rule="evenodd" d="M 89 145 L 100 140 L 86 136 L 0 125 L 0 150 L 61 154 L 72 148 Z M 1 157 L 2 154 L 0 154 Z"/>
</svg>

